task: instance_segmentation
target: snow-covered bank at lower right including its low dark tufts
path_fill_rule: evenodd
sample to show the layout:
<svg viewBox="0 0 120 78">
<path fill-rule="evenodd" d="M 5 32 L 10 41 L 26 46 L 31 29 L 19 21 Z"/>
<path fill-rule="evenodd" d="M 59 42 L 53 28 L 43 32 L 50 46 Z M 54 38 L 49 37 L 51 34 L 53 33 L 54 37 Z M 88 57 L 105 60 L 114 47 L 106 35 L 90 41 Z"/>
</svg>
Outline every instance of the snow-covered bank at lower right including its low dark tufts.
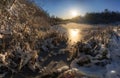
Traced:
<svg viewBox="0 0 120 78">
<path fill-rule="evenodd" d="M 106 44 L 101 44 L 99 41 L 98 51 L 104 52 L 104 49 L 108 50 L 107 58 L 97 59 L 96 57 L 102 57 L 99 54 L 96 56 L 81 55 L 79 58 L 75 59 L 71 63 L 71 68 L 77 68 L 79 71 L 85 73 L 86 75 L 94 75 L 97 78 L 120 78 L 120 30 L 119 27 L 115 28 L 109 33 L 109 42 Z M 104 48 L 102 48 L 104 46 Z M 81 48 L 80 48 L 81 49 Z M 104 50 L 104 51 L 103 51 Z M 96 49 L 97 51 L 97 49 Z M 87 56 L 88 58 L 84 58 Z M 90 61 L 90 62 L 89 62 Z M 88 62 L 88 63 L 86 63 Z M 83 65 L 79 63 L 85 63 Z"/>
</svg>

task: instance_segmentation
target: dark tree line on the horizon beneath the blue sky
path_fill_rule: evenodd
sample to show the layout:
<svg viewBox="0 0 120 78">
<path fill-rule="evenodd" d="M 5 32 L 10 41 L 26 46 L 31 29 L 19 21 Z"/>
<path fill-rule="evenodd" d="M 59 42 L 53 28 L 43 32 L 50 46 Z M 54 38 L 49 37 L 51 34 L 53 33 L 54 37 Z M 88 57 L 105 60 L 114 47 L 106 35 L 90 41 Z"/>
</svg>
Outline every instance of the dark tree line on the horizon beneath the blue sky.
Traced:
<svg viewBox="0 0 120 78">
<path fill-rule="evenodd" d="M 109 11 L 86 13 L 85 16 L 78 16 L 70 21 L 89 24 L 110 24 L 120 22 L 120 12 Z"/>
</svg>

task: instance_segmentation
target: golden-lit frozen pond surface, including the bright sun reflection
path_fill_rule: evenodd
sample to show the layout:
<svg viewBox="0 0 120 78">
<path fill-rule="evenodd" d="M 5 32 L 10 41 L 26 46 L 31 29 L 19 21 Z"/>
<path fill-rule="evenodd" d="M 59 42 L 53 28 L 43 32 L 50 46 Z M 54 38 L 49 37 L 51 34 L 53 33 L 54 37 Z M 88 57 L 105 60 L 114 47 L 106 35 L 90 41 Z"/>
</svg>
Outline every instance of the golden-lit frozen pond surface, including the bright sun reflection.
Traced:
<svg viewBox="0 0 120 78">
<path fill-rule="evenodd" d="M 92 28 L 91 25 L 77 23 L 64 24 L 62 27 L 66 30 L 69 44 L 75 44 L 83 40 L 84 36 L 86 36 Z"/>
</svg>

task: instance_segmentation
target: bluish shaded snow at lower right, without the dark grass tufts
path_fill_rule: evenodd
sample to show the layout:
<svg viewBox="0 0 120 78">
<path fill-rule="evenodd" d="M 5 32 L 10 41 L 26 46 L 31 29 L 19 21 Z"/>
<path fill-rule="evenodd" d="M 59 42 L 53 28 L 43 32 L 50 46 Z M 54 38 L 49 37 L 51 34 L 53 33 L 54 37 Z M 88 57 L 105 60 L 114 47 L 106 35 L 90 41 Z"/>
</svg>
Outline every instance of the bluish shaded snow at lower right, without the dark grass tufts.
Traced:
<svg viewBox="0 0 120 78">
<path fill-rule="evenodd" d="M 110 63 L 105 66 L 96 66 L 93 63 L 98 62 L 98 60 L 92 61 L 89 67 L 79 66 L 77 61 L 79 59 L 75 59 L 71 63 L 72 68 L 76 68 L 81 72 L 86 73 L 87 75 L 94 75 L 98 78 L 120 78 L 120 33 L 117 28 L 113 29 L 113 34 L 111 35 L 109 41 L 109 47 L 107 57 L 111 59 Z M 105 50 L 105 46 L 101 45 L 100 52 Z M 100 54 L 96 56 L 101 57 Z"/>
</svg>

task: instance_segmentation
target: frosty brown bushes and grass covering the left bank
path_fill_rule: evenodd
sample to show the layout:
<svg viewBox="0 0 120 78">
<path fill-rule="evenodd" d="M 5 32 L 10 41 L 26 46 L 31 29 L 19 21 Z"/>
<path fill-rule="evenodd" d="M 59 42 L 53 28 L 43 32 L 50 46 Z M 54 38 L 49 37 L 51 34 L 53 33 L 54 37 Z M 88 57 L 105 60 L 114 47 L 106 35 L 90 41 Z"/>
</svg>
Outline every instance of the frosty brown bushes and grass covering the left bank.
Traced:
<svg viewBox="0 0 120 78">
<path fill-rule="evenodd" d="M 25 67 L 35 72 L 40 68 L 37 42 L 50 32 L 48 14 L 29 0 L 1 0 L 0 6 L 0 74 Z"/>
</svg>

